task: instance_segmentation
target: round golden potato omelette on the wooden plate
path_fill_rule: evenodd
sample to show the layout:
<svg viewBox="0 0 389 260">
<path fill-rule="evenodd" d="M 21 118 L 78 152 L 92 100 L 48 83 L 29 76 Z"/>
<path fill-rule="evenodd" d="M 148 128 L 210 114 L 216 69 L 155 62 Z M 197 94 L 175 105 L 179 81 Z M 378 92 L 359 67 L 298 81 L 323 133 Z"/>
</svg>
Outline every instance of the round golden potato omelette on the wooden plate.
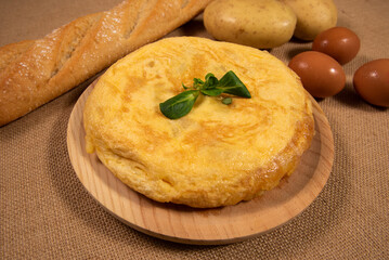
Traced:
<svg viewBox="0 0 389 260">
<path fill-rule="evenodd" d="M 233 70 L 251 99 L 199 96 L 171 120 L 159 103 L 194 78 Z M 109 67 L 83 110 L 87 152 L 132 190 L 196 208 L 234 205 L 275 187 L 314 134 L 309 94 L 265 51 L 196 37 L 147 44 Z"/>
</svg>

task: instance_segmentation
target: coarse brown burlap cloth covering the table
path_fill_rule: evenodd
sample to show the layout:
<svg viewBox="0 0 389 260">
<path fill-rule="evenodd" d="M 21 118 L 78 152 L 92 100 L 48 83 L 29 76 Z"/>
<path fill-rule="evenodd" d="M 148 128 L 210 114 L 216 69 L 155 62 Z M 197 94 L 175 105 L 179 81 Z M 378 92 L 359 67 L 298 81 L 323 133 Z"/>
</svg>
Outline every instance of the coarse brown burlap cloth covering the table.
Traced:
<svg viewBox="0 0 389 260">
<path fill-rule="evenodd" d="M 42 37 L 120 0 L 0 2 L 0 46 Z M 70 165 L 66 127 L 88 82 L 0 128 L 0 258 L 2 259 L 389 259 L 389 110 L 363 102 L 352 75 L 389 57 L 389 2 L 336 0 L 339 26 L 361 38 L 343 68 L 346 89 L 320 101 L 335 140 L 329 180 L 315 202 L 278 229 L 226 246 L 189 246 L 137 232 L 87 193 Z M 173 35 L 206 35 L 192 22 Z M 310 43 L 271 51 L 287 63 Z"/>
</svg>

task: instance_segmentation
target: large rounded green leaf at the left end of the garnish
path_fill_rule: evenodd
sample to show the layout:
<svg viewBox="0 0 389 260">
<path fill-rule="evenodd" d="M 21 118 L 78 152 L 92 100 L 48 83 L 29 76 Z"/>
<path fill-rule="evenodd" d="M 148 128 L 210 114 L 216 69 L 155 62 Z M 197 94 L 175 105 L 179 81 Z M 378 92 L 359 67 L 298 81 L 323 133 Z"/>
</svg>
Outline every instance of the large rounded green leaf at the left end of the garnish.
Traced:
<svg viewBox="0 0 389 260">
<path fill-rule="evenodd" d="M 186 90 L 159 104 L 160 112 L 170 119 L 178 119 L 192 110 L 198 90 Z"/>
</svg>

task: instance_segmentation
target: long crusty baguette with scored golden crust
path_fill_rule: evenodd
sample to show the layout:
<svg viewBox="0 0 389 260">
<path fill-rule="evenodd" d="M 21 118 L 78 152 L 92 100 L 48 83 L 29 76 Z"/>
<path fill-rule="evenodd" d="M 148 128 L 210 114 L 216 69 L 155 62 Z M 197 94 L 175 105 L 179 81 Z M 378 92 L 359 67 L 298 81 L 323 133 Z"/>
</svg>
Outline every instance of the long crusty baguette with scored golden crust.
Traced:
<svg viewBox="0 0 389 260">
<path fill-rule="evenodd" d="M 0 126 L 190 21 L 211 0 L 126 0 L 42 39 L 0 48 Z"/>
</svg>

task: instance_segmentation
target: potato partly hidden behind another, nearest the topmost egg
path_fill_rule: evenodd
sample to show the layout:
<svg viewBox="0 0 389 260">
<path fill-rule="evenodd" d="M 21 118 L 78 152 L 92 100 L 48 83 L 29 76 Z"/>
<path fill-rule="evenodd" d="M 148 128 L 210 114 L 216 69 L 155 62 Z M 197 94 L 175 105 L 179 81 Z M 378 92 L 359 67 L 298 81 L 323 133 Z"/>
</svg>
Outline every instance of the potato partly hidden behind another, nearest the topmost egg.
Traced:
<svg viewBox="0 0 389 260">
<path fill-rule="evenodd" d="M 336 26 L 338 12 L 333 0 L 282 0 L 297 15 L 294 36 L 313 40 L 320 32 Z"/>
</svg>

